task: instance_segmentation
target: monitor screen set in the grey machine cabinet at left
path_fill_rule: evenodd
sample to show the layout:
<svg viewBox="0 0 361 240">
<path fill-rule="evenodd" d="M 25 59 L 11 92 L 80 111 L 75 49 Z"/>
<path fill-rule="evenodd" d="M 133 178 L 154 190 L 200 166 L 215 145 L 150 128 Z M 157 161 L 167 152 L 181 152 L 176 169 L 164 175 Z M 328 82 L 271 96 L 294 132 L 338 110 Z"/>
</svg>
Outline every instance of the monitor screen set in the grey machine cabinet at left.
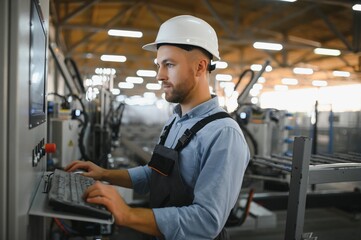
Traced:
<svg viewBox="0 0 361 240">
<path fill-rule="evenodd" d="M 29 128 L 34 128 L 46 120 L 47 35 L 39 5 L 34 0 L 30 2 Z"/>
</svg>

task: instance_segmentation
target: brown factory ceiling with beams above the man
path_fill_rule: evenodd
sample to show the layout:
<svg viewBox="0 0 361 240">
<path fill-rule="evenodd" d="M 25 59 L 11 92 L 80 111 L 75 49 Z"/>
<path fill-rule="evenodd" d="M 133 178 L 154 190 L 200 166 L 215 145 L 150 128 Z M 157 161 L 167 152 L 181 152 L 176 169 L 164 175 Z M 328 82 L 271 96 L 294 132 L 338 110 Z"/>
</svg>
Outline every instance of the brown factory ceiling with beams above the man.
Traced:
<svg viewBox="0 0 361 240">
<path fill-rule="evenodd" d="M 96 68 L 114 68 L 116 87 L 139 69 L 156 70 L 156 54 L 142 49 L 155 40 L 162 22 L 176 15 L 203 18 L 216 30 L 220 56 L 228 63 L 215 74 L 230 74 L 237 83 L 240 74 L 252 64 L 269 60 L 272 71 L 262 74 L 262 91 L 273 90 L 284 77 L 296 78 L 293 88 L 312 87 L 312 80 L 327 80 L 328 85 L 361 82 L 361 12 L 349 0 L 51 0 L 50 21 L 54 27 L 52 42 L 76 63 L 82 78 L 91 78 Z M 361 1 L 358 1 L 361 3 Z M 113 37 L 110 29 L 141 31 L 141 38 Z M 282 44 L 280 51 L 260 50 L 254 42 Z M 318 55 L 315 48 L 340 50 L 339 56 Z M 103 54 L 126 56 L 123 63 L 104 62 Z M 295 75 L 295 67 L 313 69 L 311 75 Z M 350 72 L 335 77 L 333 71 Z M 246 80 L 244 80 L 246 81 Z M 247 80 L 248 81 L 248 80 Z M 122 89 L 125 95 L 142 95 L 146 83 Z M 240 89 L 242 91 L 241 83 Z M 162 90 L 156 91 L 160 95 Z M 220 92 L 219 94 L 222 94 Z"/>
</svg>

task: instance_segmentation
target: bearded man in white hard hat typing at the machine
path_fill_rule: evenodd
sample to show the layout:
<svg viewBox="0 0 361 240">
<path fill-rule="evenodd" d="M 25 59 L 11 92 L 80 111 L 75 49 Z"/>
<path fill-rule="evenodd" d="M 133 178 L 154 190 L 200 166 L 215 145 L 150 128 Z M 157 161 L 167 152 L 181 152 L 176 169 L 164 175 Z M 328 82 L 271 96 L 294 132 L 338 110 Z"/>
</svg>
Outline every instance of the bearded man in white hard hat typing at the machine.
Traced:
<svg viewBox="0 0 361 240">
<path fill-rule="evenodd" d="M 178 103 L 152 160 L 128 170 L 76 161 L 66 170 L 82 168 L 85 176 L 150 192 L 147 209 L 129 207 L 111 185 L 97 182 L 86 190 L 86 201 L 106 206 L 118 225 L 160 239 L 228 239 L 224 225 L 249 161 L 246 141 L 238 124 L 225 116 L 189 135 L 200 120 L 225 115 L 208 85 L 211 59 L 220 59 L 216 33 L 199 18 L 178 16 L 163 23 L 156 41 L 143 48 L 157 51 L 157 80 L 166 100 Z"/>
</svg>

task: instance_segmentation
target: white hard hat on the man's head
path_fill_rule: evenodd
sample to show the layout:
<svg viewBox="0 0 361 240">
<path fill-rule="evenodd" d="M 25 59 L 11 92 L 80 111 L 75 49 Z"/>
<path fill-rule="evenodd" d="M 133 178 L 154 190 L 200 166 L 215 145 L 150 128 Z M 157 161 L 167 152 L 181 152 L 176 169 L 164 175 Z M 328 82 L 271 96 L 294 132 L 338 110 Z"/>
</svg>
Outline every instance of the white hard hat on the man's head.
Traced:
<svg viewBox="0 0 361 240">
<path fill-rule="evenodd" d="M 197 46 L 220 60 L 216 32 L 211 25 L 197 17 L 181 15 L 165 21 L 159 28 L 155 42 L 144 45 L 143 49 L 157 51 L 157 45 L 161 43 Z"/>
</svg>

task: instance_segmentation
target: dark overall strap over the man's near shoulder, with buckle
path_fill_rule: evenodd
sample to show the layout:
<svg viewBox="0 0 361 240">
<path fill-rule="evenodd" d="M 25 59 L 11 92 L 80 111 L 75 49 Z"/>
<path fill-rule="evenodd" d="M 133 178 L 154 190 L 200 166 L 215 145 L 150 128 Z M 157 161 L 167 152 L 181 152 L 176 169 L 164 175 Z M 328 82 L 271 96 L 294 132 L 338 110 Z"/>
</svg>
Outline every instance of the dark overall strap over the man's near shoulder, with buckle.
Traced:
<svg viewBox="0 0 361 240">
<path fill-rule="evenodd" d="M 178 139 L 178 143 L 175 146 L 174 150 L 180 151 L 185 146 L 187 146 L 188 143 L 191 141 L 192 137 L 208 123 L 210 123 L 214 120 L 226 118 L 226 117 L 231 118 L 231 116 L 226 112 L 218 112 L 218 113 L 215 113 L 213 115 L 203 118 L 202 120 L 197 122 L 190 130 L 187 129 L 184 131 L 182 137 L 180 137 Z"/>
</svg>

